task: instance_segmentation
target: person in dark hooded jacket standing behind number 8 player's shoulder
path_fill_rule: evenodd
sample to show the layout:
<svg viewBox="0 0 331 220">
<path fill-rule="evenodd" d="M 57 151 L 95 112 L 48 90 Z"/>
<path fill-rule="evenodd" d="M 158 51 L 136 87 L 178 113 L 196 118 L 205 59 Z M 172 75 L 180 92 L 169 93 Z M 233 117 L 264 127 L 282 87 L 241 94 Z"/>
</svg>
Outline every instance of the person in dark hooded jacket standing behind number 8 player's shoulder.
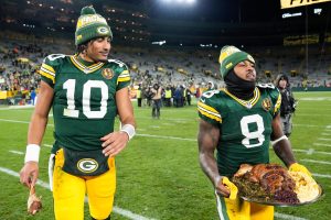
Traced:
<svg viewBox="0 0 331 220">
<path fill-rule="evenodd" d="M 280 120 L 282 132 L 285 135 L 290 136 L 292 132 L 292 116 L 296 111 L 297 102 L 290 90 L 289 79 L 286 75 L 278 75 L 275 85 L 281 95 Z"/>
</svg>

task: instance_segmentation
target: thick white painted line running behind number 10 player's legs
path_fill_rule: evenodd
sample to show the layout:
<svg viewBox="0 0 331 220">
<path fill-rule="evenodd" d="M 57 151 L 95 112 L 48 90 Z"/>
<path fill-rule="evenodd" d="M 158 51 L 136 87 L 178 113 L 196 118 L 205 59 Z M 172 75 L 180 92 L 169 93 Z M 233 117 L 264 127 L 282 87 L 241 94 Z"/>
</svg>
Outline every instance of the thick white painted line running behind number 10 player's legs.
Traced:
<svg viewBox="0 0 331 220">
<path fill-rule="evenodd" d="M 8 169 L 8 168 L 4 168 L 4 167 L 1 167 L 1 166 L 0 166 L 0 172 L 20 178 L 20 174 L 19 173 L 13 172 L 13 170 Z M 38 179 L 36 185 L 39 185 L 39 186 L 41 186 L 43 188 L 50 189 L 50 185 L 46 182 Z M 119 207 L 116 207 L 116 206 L 113 208 L 113 211 L 115 213 L 121 215 L 121 216 L 127 217 L 128 219 L 132 219 L 132 220 L 154 220 L 154 219 L 149 219 L 149 218 L 139 216 L 137 213 L 134 213 L 134 212 L 131 212 L 129 210 L 126 210 L 126 209 L 122 209 L 122 208 L 119 208 Z"/>
</svg>

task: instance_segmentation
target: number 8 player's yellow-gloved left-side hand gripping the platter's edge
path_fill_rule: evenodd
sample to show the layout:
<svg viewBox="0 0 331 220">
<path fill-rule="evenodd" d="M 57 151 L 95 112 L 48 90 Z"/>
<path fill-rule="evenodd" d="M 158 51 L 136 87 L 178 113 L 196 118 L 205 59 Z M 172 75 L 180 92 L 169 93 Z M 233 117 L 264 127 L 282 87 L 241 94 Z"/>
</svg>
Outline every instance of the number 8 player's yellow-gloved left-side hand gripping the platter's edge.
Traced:
<svg viewBox="0 0 331 220">
<path fill-rule="evenodd" d="M 215 185 L 218 195 L 235 200 L 237 198 L 238 188 L 227 177 L 218 178 Z"/>
</svg>

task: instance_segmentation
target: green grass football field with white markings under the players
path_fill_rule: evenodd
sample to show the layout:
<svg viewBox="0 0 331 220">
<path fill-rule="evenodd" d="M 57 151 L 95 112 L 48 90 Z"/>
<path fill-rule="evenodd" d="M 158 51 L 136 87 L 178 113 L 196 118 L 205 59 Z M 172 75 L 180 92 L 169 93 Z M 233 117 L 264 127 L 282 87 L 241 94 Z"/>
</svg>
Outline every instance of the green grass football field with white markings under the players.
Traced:
<svg viewBox="0 0 331 220">
<path fill-rule="evenodd" d="M 276 208 L 275 219 L 327 220 L 331 217 L 331 92 L 298 92 L 299 106 L 290 138 L 297 160 L 324 189 L 316 204 Z M 138 135 L 117 158 L 117 193 L 111 219 L 212 220 L 217 219 L 213 188 L 197 161 L 196 107 L 162 108 L 152 120 L 151 109 L 137 108 Z M 53 217 L 52 195 L 38 186 L 43 209 L 26 215 L 28 189 L 17 176 L 23 165 L 26 131 L 33 109 L 0 108 L 0 217 L 6 220 Z M 49 124 L 53 124 L 50 120 Z M 53 143 L 49 125 L 40 161 L 40 179 L 47 183 L 47 160 Z M 270 151 L 271 161 L 280 163 Z M 88 217 L 86 208 L 86 216 Z M 139 215 L 139 216 L 135 216 Z M 89 219 L 87 218 L 86 219 Z M 70 218 L 68 218 L 70 219 Z"/>
</svg>

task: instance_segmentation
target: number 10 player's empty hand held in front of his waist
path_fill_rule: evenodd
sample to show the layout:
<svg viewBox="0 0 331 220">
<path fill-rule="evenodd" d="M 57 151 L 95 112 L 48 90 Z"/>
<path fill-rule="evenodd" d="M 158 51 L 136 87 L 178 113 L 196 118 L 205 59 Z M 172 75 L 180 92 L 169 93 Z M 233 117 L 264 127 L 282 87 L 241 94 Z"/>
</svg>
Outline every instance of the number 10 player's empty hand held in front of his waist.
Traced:
<svg viewBox="0 0 331 220">
<path fill-rule="evenodd" d="M 103 141 L 103 153 L 105 156 L 116 156 L 126 147 L 129 136 L 126 132 L 117 131 L 109 133 L 100 139 Z"/>
</svg>

